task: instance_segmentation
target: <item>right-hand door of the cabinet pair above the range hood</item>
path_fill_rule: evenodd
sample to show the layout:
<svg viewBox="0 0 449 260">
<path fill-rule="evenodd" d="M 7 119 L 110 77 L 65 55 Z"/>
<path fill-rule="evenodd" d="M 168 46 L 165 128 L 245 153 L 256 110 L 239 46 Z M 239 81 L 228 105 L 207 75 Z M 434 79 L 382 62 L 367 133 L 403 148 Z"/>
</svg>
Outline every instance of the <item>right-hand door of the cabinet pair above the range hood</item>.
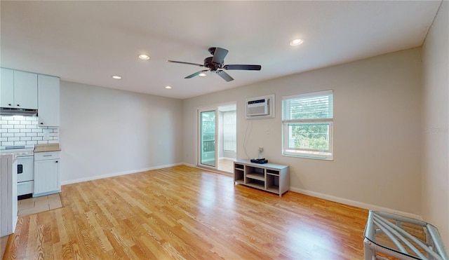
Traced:
<svg viewBox="0 0 449 260">
<path fill-rule="evenodd" d="M 37 74 L 14 71 L 14 107 L 37 109 Z"/>
</svg>

